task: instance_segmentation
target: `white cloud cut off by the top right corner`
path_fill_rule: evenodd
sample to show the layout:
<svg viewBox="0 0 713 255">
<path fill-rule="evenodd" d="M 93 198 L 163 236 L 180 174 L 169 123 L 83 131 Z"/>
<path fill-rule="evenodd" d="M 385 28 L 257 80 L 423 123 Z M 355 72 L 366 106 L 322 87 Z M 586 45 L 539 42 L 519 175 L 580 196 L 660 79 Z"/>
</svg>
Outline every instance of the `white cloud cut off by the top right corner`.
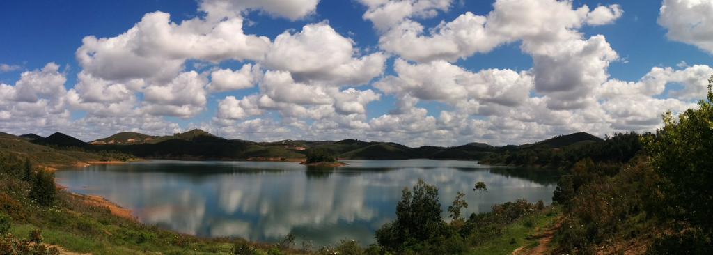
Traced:
<svg viewBox="0 0 713 255">
<path fill-rule="evenodd" d="M 664 0 L 658 22 L 673 41 L 692 44 L 713 53 L 713 2 Z"/>
</svg>

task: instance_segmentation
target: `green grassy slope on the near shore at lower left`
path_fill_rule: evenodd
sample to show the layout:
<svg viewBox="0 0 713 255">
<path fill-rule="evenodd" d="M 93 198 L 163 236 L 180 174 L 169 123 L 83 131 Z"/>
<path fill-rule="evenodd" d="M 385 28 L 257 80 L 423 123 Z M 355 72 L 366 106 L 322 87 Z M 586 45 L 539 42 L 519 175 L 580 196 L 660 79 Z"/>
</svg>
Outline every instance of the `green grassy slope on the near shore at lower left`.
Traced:
<svg viewBox="0 0 713 255">
<path fill-rule="evenodd" d="M 20 202 L 21 204 L 26 204 Z M 92 254 L 232 254 L 235 240 L 198 238 L 123 219 L 101 206 L 84 204 L 79 196 L 61 191 L 51 208 L 26 204 L 26 220 L 14 220 L 10 233 L 29 236 L 41 229 L 44 243 L 67 251 Z M 274 249 L 267 244 L 250 244 L 257 252 Z"/>
</svg>

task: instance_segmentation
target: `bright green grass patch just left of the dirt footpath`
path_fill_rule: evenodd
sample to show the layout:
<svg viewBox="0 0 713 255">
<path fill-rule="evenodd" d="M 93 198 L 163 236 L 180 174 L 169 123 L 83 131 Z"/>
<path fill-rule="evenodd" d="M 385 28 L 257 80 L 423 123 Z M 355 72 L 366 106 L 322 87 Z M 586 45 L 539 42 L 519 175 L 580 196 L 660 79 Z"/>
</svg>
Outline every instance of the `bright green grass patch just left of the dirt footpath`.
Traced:
<svg viewBox="0 0 713 255">
<path fill-rule="evenodd" d="M 500 236 L 473 247 L 468 254 L 512 254 L 521 246 L 525 246 L 526 249 L 538 246 L 538 239 L 533 236 L 554 226 L 558 214 L 559 210 L 552 208 L 539 214 L 525 216 L 504 227 Z M 514 243 L 513 239 L 515 239 Z"/>
</svg>

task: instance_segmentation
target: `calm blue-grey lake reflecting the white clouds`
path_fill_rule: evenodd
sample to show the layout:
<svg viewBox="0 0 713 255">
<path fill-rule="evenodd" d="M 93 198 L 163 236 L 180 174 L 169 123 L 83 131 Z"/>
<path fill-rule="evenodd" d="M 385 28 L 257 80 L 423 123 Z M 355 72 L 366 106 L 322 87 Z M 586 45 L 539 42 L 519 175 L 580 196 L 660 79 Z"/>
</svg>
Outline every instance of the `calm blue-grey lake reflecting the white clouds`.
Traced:
<svg viewBox="0 0 713 255">
<path fill-rule="evenodd" d="M 483 211 L 515 199 L 550 204 L 555 174 L 496 168 L 475 161 L 346 160 L 333 170 L 295 162 L 140 161 L 56 172 L 59 184 L 103 196 L 145 224 L 197 236 L 279 241 L 294 234 L 316 247 L 354 239 L 374 242 L 379 226 L 396 217 L 401 190 L 419 179 L 438 186 L 443 217 L 457 191 L 470 215 L 478 211 L 476 181 L 488 185 Z M 466 216 L 467 218 L 467 216 Z"/>
</svg>

